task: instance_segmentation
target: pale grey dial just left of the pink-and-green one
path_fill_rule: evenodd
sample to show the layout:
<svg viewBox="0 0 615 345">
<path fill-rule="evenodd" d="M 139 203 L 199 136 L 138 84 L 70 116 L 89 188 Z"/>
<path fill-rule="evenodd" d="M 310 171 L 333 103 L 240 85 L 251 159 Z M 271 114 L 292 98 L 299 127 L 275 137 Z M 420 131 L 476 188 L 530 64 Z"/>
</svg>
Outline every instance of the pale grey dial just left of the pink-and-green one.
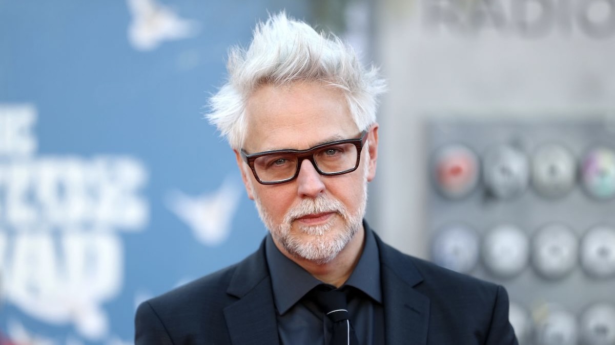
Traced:
<svg viewBox="0 0 615 345">
<path fill-rule="evenodd" d="M 532 185 L 547 198 L 566 195 L 574 187 L 576 165 L 573 155 L 563 146 L 545 144 L 532 157 Z"/>
</svg>

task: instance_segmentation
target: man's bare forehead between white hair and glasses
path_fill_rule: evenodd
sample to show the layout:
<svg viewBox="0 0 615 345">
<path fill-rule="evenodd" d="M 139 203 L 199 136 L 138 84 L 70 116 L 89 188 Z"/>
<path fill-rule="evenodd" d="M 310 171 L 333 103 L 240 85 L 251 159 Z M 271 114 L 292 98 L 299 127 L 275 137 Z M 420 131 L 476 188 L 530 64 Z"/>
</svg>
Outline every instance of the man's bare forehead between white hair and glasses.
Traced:
<svg viewBox="0 0 615 345">
<path fill-rule="evenodd" d="M 359 133 L 343 91 L 322 82 L 263 85 L 248 98 L 246 112 L 244 149 L 252 153 L 308 149 Z"/>
</svg>

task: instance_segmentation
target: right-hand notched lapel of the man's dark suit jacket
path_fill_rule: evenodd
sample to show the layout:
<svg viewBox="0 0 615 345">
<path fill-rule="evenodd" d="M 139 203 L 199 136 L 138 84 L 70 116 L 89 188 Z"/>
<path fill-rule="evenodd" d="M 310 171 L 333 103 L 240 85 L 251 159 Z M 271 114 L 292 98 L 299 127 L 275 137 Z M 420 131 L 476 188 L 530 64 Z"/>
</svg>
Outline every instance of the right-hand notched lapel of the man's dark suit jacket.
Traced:
<svg viewBox="0 0 615 345">
<path fill-rule="evenodd" d="M 413 287 L 423 281 L 407 255 L 384 244 L 378 236 L 383 287 L 386 344 L 427 344 L 429 298 Z"/>
</svg>

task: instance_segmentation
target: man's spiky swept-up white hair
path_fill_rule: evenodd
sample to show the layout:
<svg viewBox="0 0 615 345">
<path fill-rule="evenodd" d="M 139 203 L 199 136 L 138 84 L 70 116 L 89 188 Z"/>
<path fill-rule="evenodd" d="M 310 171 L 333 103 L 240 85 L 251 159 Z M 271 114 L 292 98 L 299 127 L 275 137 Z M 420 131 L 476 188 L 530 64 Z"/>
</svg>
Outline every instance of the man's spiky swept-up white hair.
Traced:
<svg viewBox="0 0 615 345">
<path fill-rule="evenodd" d="M 376 122 L 378 96 L 386 90 L 378 68 L 364 68 L 350 45 L 333 34 L 317 33 L 285 12 L 258 23 L 247 49 L 231 47 L 227 69 L 228 82 L 210 98 L 205 116 L 233 149 L 244 143 L 247 99 L 263 83 L 314 80 L 340 88 L 359 130 Z"/>
</svg>

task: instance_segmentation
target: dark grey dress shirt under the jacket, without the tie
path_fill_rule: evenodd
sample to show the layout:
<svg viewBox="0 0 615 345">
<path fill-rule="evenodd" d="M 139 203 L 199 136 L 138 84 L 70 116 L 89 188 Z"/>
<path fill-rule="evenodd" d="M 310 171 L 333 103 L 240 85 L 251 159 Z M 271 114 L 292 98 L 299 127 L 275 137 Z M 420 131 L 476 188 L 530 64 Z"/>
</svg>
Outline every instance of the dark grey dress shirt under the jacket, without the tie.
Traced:
<svg viewBox="0 0 615 345">
<path fill-rule="evenodd" d="M 360 345 L 384 344 L 384 312 L 378 246 L 369 227 L 359 262 L 340 289 L 351 292 L 348 311 Z M 283 345 L 327 344 L 331 322 L 313 301 L 303 298 L 321 281 L 285 257 L 268 235 L 266 257 L 271 274 L 277 327 Z"/>
</svg>

